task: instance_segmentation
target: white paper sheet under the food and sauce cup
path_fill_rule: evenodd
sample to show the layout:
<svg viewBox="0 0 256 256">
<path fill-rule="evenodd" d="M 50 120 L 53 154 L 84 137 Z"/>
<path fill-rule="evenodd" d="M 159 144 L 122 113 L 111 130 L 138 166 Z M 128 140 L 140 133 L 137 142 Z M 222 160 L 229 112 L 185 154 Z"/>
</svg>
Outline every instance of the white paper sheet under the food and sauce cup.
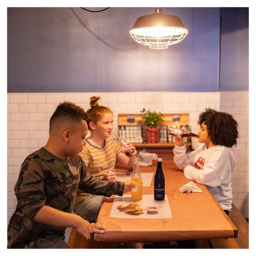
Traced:
<svg viewBox="0 0 256 256">
<path fill-rule="evenodd" d="M 125 206 L 127 203 L 131 202 L 131 195 L 123 195 L 122 197 L 115 195 L 114 202 L 111 208 L 109 217 L 113 218 L 172 218 L 172 212 L 170 209 L 169 201 L 167 195 L 163 201 L 154 200 L 154 195 L 143 195 L 142 200 L 137 201 L 140 204 L 140 208 L 143 209 L 143 214 L 132 215 L 130 213 L 119 211 L 116 209 L 118 205 Z M 157 213 L 148 213 L 146 207 L 149 205 L 157 205 L 160 207 Z"/>
</svg>

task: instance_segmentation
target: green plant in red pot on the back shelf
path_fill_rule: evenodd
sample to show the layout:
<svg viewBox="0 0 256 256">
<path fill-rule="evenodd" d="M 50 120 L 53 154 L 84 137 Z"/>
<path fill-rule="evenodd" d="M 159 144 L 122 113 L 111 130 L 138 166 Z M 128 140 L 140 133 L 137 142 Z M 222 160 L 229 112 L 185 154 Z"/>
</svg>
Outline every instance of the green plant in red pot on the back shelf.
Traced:
<svg viewBox="0 0 256 256">
<path fill-rule="evenodd" d="M 144 113 L 144 123 L 148 126 L 145 131 L 147 143 L 158 143 L 159 132 L 163 123 L 163 114 L 155 111 L 151 112 L 150 109 L 145 111 L 145 108 L 140 112 Z"/>
</svg>

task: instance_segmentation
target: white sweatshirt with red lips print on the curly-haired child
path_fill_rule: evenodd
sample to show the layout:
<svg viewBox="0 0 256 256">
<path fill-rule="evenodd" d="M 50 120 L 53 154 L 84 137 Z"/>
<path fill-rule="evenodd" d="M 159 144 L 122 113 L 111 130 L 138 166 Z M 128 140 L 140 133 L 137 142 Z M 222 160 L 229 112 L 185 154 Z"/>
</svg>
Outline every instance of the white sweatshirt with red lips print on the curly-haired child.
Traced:
<svg viewBox="0 0 256 256">
<path fill-rule="evenodd" d="M 179 169 L 184 169 L 187 179 L 207 186 L 221 208 L 230 211 L 232 208 L 232 172 L 236 166 L 235 157 L 230 148 L 215 145 L 207 149 L 205 144 L 196 150 L 186 153 L 186 145 L 175 145 L 174 162 Z"/>
</svg>

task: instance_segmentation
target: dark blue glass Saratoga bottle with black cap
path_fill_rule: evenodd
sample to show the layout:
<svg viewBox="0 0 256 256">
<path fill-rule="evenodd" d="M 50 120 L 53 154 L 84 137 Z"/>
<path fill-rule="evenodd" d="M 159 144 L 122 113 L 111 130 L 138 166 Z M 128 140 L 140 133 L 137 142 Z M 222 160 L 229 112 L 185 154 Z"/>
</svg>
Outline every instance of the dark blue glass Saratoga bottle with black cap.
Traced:
<svg viewBox="0 0 256 256">
<path fill-rule="evenodd" d="M 154 199 L 161 201 L 165 196 L 165 179 L 162 169 L 162 158 L 157 158 L 157 171 L 154 177 Z"/>
</svg>

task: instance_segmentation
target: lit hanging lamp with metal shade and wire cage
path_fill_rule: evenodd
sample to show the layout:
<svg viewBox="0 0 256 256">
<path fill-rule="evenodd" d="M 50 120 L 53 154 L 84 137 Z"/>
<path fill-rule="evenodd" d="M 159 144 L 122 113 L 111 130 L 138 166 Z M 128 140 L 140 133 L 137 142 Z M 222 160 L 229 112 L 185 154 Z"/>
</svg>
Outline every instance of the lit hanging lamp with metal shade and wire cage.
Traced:
<svg viewBox="0 0 256 256">
<path fill-rule="evenodd" d="M 164 14 L 157 8 L 155 13 L 137 18 L 130 35 L 150 49 L 167 49 L 169 45 L 182 41 L 188 32 L 179 17 Z"/>
</svg>

